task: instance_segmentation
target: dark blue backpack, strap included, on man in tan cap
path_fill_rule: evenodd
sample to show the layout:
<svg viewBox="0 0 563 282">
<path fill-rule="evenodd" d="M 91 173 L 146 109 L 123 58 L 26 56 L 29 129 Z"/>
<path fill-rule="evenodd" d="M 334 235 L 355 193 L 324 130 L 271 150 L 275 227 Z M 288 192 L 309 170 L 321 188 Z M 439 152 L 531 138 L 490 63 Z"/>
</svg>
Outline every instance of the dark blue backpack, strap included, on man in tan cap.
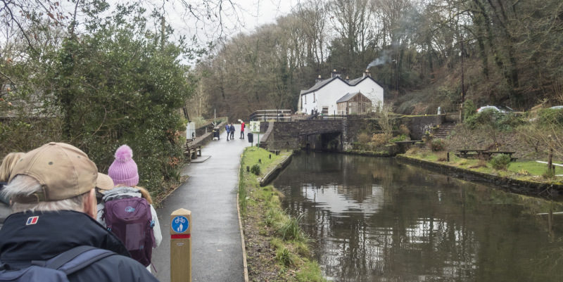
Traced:
<svg viewBox="0 0 563 282">
<path fill-rule="evenodd" d="M 9 264 L 1 264 L 0 281 L 45 281 L 68 282 L 68 275 L 90 264 L 116 255 L 115 252 L 82 245 L 46 261 L 34 260 L 30 265 L 14 269 Z"/>
</svg>

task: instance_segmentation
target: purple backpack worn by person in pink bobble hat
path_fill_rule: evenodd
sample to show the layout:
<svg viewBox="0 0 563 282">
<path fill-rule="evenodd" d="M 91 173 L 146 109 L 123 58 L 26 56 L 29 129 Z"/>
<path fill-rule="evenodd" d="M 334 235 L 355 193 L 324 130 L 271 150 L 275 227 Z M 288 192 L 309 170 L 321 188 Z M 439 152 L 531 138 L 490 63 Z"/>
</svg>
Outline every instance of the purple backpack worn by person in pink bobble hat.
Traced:
<svg viewBox="0 0 563 282">
<path fill-rule="evenodd" d="M 134 197 L 110 200 L 103 209 L 108 230 L 121 239 L 132 259 L 148 267 L 156 248 L 151 205 Z"/>
</svg>

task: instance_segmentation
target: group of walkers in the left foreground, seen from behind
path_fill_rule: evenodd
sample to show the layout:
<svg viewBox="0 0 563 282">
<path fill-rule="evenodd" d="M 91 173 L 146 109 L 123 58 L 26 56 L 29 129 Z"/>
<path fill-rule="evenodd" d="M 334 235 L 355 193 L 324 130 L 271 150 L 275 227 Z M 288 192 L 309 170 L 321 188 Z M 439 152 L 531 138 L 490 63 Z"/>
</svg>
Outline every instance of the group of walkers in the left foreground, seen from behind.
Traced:
<svg viewBox="0 0 563 282">
<path fill-rule="evenodd" d="M 0 229 L 0 281 L 158 281 L 150 266 L 162 233 L 132 157 L 120 146 L 102 174 L 66 143 L 6 155 L 0 195 L 12 213 Z"/>
</svg>

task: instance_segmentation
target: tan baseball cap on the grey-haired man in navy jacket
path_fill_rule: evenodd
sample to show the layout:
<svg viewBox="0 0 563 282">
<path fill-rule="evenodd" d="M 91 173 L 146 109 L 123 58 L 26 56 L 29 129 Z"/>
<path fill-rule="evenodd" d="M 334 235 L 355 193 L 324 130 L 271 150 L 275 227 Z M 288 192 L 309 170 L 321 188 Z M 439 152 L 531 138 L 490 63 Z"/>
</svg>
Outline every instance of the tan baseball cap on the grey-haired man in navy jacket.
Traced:
<svg viewBox="0 0 563 282">
<path fill-rule="evenodd" d="M 17 203 L 65 200 L 79 196 L 94 188 L 98 179 L 96 164 L 82 150 L 55 142 L 25 153 L 13 167 L 10 181 L 18 174 L 37 180 L 43 191 L 13 198 Z"/>
</svg>

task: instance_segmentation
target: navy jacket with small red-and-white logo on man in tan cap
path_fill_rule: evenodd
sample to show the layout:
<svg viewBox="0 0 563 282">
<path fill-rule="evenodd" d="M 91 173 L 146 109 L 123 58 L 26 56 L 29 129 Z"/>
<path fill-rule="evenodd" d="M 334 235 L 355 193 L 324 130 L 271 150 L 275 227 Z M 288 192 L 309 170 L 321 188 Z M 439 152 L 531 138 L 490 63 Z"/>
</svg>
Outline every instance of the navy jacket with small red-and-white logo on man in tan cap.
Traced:
<svg viewBox="0 0 563 282">
<path fill-rule="evenodd" d="M 38 216 L 35 224 L 30 217 Z M 19 212 L 0 229 L 0 262 L 14 268 L 32 260 L 46 260 L 79 245 L 118 253 L 100 259 L 68 276 L 69 281 L 158 281 L 129 257 L 121 241 L 82 212 Z"/>
</svg>

